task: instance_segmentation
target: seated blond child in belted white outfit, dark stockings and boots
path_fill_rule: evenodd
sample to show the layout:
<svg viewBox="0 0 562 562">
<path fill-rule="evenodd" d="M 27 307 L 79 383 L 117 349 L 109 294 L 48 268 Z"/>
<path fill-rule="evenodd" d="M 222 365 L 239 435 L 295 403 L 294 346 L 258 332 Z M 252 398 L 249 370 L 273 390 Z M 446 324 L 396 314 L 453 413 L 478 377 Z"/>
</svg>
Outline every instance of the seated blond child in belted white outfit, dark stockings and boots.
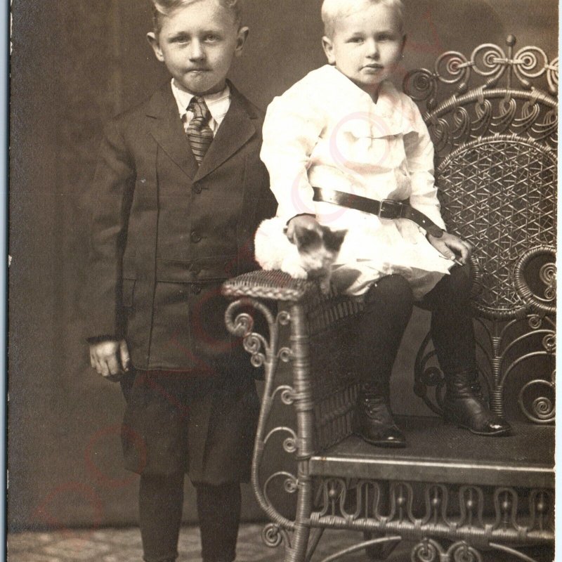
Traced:
<svg viewBox="0 0 562 562">
<path fill-rule="evenodd" d="M 354 431 L 374 445 L 405 445 L 389 379 L 413 303 L 423 301 L 445 374 L 445 418 L 481 435 L 507 433 L 478 386 L 471 246 L 445 232 L 429 133 L 387 80 L 403 58 L 403 4 L 325 0 L 322 20 L 329 65 L 270 104 L 261 158 L 289 238 L 318 223 L 348 230 L 333 280 L 365 302 Z"/>
</svg>

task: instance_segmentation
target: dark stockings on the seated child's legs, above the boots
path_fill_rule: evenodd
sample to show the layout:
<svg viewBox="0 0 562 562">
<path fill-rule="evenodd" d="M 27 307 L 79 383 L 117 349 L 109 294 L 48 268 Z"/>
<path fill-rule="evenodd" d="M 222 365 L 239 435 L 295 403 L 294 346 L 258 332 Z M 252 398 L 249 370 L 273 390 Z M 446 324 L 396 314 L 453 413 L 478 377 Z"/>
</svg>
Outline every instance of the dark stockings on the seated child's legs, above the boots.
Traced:
<svg viewBox="0 0 562 562">
<path fill-rule="evenodd" d="M 420 303 L 431 310 L 431 337 L 445 375 L 476 368 L 470 289 L 469 266 L 455 266 Z M 413 305 L 412 289 L 400 275 L 382 277 L 365 295 L 358 373 L 363 382 L 376 382 L 387 398 L 388 381 Z"/>
</svg>

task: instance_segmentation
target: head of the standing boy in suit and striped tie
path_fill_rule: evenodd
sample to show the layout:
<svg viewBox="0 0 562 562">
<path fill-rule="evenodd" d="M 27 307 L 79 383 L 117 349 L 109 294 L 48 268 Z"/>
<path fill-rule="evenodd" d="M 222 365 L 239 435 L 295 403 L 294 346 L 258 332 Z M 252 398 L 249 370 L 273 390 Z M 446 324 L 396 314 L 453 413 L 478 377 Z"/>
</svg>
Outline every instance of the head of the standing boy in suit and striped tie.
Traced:
<svg viewBox="0 0 562 562">
<path fill-rule="evenodd" d="M 148 41 L 179 89 L 204 96 L 225 88 L 247 35 L 248 28 L 239 28 L 218 0 L 200 0 L 163 16 L 158 36 L 151 32 Z"/>
</svg>

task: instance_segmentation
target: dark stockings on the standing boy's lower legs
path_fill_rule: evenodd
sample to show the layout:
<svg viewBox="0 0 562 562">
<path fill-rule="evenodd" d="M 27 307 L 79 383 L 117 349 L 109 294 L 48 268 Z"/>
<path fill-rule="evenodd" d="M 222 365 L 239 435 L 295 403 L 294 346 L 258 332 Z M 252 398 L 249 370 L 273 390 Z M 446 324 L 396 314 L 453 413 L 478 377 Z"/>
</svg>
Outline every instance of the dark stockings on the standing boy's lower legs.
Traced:
<svg viewBox="0 0 562 562">
<path fill-rule="evenodd" d="M 204 562 L 232 562 L 240 523 L 240 484 L 196 485 Z M 178 556 L 183 473 L 141 476 L 139 511 L 144 560 L 171 562 Z"/>
</svg>

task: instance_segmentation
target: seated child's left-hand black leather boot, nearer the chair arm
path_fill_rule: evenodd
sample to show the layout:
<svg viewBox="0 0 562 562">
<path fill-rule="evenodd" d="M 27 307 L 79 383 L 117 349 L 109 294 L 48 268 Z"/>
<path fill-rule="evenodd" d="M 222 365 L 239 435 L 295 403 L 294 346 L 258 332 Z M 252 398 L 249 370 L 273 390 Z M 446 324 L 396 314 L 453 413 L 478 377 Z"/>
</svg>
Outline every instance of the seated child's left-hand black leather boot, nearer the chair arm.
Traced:
<svg viewBox="0 0 562 562">
<path fill-rule="evenodd" d="M 377 447 L 405 447 L 406 438 L 392 417 L 388 398 L 377 384 L 363 384 L 351 421 L 353 433 Z"/>
</svg>

